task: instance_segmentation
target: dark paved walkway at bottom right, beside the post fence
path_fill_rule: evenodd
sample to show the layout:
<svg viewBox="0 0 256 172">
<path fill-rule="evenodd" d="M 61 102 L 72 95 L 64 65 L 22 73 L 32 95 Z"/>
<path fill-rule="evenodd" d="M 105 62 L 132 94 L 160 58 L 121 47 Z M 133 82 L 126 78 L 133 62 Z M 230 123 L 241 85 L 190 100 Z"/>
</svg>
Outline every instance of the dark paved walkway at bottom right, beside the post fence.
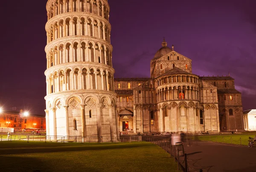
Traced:
<svg viewBox="0 0 256 172">
<path fill-rule="evenodd" d="M 193 141 L 184 150 L 189 172 L 256 172 L 256 148 Z"/>
</svg>

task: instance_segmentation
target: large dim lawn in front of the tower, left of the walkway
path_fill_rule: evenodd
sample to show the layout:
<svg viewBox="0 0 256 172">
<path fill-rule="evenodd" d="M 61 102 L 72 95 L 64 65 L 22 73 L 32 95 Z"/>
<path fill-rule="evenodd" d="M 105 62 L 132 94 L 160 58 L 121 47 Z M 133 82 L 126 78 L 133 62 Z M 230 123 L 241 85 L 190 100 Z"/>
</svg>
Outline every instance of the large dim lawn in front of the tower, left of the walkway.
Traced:
<svg viewBox="0 0 256 172">
<path fill-rule="evenodd" d="M 29 145 L 29 146 L 28 146 Z M 159 146 L 134 143 L 0 143 L 3 172 L 177 172 Z"/>
</svg>

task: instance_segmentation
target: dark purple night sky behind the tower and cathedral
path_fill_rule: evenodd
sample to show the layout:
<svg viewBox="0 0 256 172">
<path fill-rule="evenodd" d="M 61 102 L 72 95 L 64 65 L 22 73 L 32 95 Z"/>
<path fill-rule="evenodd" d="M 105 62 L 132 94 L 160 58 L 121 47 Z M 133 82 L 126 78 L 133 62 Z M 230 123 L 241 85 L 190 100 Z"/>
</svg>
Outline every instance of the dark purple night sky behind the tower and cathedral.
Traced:
<svg viewBox="0 0 256 172">
<path fill-rule="evenodd" d="M 243 109 L 256 109 L 255 0 L 108 0 L 115 77 L 150 77 L 150 60 L 168 46 L 200 76 L 228 75 Z M 0 106 L 44 115 L 46 0 L 3 1 Z"/>
</svg>

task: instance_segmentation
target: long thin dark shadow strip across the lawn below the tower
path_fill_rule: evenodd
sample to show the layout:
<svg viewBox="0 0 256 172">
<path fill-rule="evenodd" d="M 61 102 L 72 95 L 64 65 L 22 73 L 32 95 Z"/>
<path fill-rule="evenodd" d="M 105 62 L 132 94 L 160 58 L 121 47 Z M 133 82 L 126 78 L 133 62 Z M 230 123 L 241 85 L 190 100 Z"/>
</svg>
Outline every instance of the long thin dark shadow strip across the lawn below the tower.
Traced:
<svg viewBox="0 0 256 172">
<path fill-rule="evenodd" d="M 47 143 L 46 143 L 47 144 Z M 110 144 L 110 145 L 81 145 L 81 146 L 64 146 L 61 147 L 38 147 L 38 148 L 15 148 L 15 149 L 1 149 L 0 155 L 12 154 L 27 154 L 27 153 L 49 153 L 49 152 L 72 152 L 72 151 L 86 151 L 86 150 L 104 150 L 104 149 L 125 149 L 134 147 L 154 146 L 148 143 L 125 143 L 125 144 Z"/>
</svg>

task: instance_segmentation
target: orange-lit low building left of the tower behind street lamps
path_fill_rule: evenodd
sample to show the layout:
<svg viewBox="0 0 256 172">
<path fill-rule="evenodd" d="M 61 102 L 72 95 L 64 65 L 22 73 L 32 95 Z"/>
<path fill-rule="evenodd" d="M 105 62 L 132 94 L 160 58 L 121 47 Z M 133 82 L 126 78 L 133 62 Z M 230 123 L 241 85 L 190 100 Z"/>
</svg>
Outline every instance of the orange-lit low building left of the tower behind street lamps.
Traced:
<svg viewBox="0 0 256 172">
<path fill-rule="evenodd" d="M 46 129 L 46 121 L 44 116 L 40 115 L 24 115 L 23 111 L 3 111 L 0 113 L 0 128 L 15 129 Z M 1 131 L 0 131 L 1 132 Z"/>
</svg>

